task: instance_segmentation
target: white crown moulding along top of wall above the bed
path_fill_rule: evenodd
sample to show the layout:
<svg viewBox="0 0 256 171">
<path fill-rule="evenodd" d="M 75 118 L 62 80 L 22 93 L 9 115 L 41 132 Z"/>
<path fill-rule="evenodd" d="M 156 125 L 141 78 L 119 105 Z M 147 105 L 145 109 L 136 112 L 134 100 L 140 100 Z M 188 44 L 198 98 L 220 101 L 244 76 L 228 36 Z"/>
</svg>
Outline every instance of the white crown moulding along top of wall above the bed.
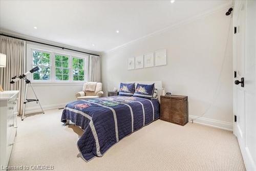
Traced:
<svg viewBox="0 0 256 171">
<path fill-rule="evenodd" d="M 137 39 L 134 39 L 134 40 L 132 40 L 132 41 L 126 42 L 125 44 L 120 45 L 120 46 L 117 46 L 117 47 L 115 47 L 115 48 L 113 48 L 113 49 L 106 50 L 106 51 L 104 51 L 104 53 L 109 53 L 109 52 L 111 52 L 111 51 L 115 51 L 115 50 L 120 49 L 120 48 L 123 48 L 123 47 L 125 47 L 125 46 L 127 46 L 127 45 L 133 44 L 134 42 L 136 42 L 136 41 L 138 41 L 138 40 L 141 40 L 141 39 L 144 39 L 144 38 L 147 38 L 147 37 L 150 37 L 150 36 L 154 36 L 154 35 L 156 35 L 156 34 L 160 34 L 160 33 L 166 32 L 166 31 L 168 31 L 169 29 L 174 29 L 174 28 L 177 28 L 177 27 L 179 27 L 179 26 L 188 24 L 188 23 L 190 23 L 190 22 L 194 22 L 195 20 L 201 19 L 201 18 L 203 18 L 203 17 L 209 16 L 209 15 L 211 15 L 211 14 L 214 14 L 214 13 L 216 13 L 216 12 L 225 10 L 225 9 L 227 9 L 227 8 L 230 8 L 230 7 L 233 7 L 233 5 L 231 5 L 231 6 L 230 6 L 230 4 L 221 5 L 221 6 L 217 7 L 217 8 L 208 10 L 208 11 L 202 13 L 202 14 L 195 15 L 195 16 L 191 16 L 191 17 L 189 17 L 189 18 L 186 19 L 186 20 L 183 20 L 183 21 L 178 22 L 178 23 L 176 23 L 176 24 L 173 24 L 173 25 L 170 25 L 170 26 L 168 26 L 168 27 L 165 27 L 164 29 L 160 29 L 160 30 L 155 31 L 155 32 L 153 32 L 153 33 L 150 33 L 150 34 L 147 34 L 147 35 L 145 35 L 145 36 L 142 36 L 142 37 L 139 37 L 139 38 L 137 38 Z M 231 15 L 230 15 L 230 17 L 231 17 Z"/>
</svg>

